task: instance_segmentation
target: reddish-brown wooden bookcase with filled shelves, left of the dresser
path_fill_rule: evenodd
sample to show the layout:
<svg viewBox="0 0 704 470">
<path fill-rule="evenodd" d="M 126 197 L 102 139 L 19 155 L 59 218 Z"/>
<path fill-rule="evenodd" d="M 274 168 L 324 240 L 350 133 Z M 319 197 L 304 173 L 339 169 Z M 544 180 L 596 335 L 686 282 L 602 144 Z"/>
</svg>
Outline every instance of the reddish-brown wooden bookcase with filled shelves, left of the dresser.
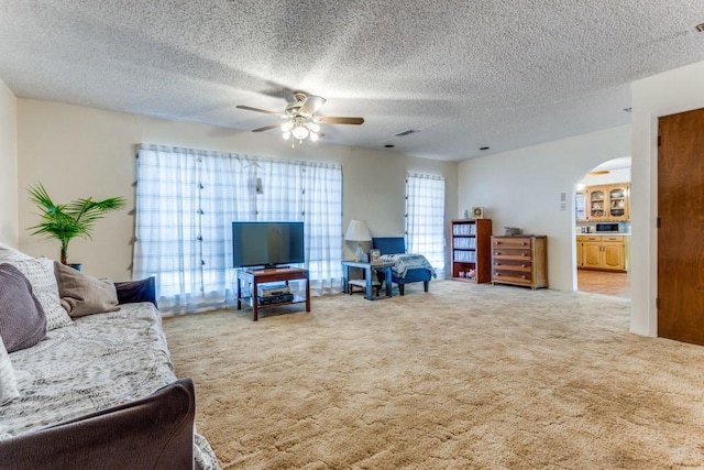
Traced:
<svg viewBox="0 0 704 470">
<path fill-rule="evenodd" d="M 487 283 L 492 278 L 492 220 L 452 220 L 452 278 Z"/>
</svg>

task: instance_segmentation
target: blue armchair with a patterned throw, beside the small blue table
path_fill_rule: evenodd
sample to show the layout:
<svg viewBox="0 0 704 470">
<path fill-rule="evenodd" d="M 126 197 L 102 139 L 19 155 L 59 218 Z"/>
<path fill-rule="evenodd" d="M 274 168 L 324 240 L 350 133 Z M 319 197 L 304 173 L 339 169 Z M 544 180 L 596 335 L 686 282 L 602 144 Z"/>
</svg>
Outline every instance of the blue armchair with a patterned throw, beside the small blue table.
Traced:
<svg viewBox="0 0 704 470">
<path fill-rule="evenodd" d="M 398 294 L 405 294 L 406 284 L 421 282 L 424 291 L 428 292 L 430 280 L 436 277 L 436 271 L 422 254 L 406 253 L 404 237 L 375 237 L 372 248 L 380 250 L 382 261 L 391 261 L 392 282 L 398 284 Z M 384 273 L 378 272 L 378 281 L 384 281 Z"/>
</svg>

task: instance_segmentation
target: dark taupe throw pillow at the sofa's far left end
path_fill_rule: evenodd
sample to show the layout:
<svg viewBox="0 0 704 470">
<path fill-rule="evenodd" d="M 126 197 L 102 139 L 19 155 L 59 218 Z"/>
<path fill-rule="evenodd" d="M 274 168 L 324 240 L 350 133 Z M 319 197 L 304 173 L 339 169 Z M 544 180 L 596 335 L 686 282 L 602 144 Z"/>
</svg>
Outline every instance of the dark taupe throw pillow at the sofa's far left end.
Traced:
<svg viewBox="0 0 704 470">
<path fill-rule="evenodd" d="M 46 336 L 46 314 L 28 278 L 0 264 L 0 337 L 8 352 L 30 348 Z"/>
</svg>

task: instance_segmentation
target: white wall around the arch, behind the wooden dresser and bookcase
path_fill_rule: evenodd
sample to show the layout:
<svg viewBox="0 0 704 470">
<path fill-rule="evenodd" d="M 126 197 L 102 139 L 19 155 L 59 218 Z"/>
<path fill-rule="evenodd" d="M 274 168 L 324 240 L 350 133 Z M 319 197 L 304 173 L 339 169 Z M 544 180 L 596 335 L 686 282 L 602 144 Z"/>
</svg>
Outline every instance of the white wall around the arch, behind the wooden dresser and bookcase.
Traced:
<svg viewBox="0 0 704 470">
<path fill-rule="evenodd" d="M 484 206 L 494 234 L 519 227 L 548 236 L 549 287 L 573 291 L 575 186 L 596 165 L 630 155 L 630 125 L 623 125 L 462 162 L 458 207 Z"/>
</svg>

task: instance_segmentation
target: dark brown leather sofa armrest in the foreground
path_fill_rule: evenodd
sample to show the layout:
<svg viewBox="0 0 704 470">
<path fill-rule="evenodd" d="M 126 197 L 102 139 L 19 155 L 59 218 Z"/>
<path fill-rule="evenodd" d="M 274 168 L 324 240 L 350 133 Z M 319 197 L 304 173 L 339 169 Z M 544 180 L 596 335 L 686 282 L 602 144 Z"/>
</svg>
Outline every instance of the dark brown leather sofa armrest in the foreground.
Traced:
<svg viewBox="0 0 704 470">
<path fill-rule="evenodd" d="M 193 469 L 190 379 L 147 397 L 0 440 L 0 469 Z"/>
</svg>

